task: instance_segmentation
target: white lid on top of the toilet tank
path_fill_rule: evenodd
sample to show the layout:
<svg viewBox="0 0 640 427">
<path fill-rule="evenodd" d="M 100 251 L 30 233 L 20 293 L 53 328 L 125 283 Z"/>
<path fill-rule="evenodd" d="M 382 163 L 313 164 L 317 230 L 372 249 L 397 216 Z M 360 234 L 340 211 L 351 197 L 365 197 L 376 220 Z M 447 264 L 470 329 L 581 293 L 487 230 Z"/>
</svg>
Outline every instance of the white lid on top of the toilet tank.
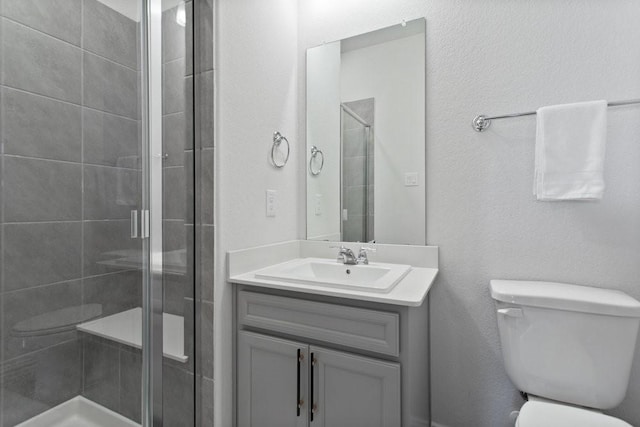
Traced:
<svg viewBox="0 0 640 427">
<path fill-rule="evenodd" d="M 622 291 L 525 280 L 491 280 L 491 297 L 517 305 L 640 317 L 640 301 Z"/>
</svg>

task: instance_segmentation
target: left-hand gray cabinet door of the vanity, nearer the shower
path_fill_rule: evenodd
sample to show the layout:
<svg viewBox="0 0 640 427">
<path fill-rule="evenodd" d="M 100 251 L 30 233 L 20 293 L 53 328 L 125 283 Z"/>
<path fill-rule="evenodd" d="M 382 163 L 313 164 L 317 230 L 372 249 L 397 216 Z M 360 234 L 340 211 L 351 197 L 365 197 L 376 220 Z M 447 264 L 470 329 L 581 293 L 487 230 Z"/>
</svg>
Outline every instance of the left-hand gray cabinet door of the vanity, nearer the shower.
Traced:
<svg viewBox="0 0 640 427">
<path fill-rule="evenodd" d="M 308 426 L 307 355 L 306 344 L 238 332 L 239 427 Z"/>
</svg>

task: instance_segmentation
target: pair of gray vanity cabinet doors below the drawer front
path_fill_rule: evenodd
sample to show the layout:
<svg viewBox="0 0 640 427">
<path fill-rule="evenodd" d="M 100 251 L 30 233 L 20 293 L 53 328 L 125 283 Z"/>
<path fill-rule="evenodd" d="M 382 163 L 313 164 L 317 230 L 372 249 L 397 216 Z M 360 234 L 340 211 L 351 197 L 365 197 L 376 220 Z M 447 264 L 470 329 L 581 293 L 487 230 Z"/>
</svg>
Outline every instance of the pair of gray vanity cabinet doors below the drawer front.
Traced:
<svg viewBox="0 0 640 427">
<path fill-rule="evenodd" d="M 241 331 L 237 370 L 239 427 L 400 425 L 397 363 Z"/>
</svg>

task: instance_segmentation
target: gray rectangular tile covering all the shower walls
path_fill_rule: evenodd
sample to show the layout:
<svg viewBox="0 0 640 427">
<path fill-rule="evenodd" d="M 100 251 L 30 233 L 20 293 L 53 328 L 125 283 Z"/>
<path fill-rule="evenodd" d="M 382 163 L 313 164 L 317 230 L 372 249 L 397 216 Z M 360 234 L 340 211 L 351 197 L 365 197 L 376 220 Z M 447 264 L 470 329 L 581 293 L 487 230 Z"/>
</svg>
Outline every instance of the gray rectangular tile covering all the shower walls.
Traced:
<svg viewBox="0 0 640 427">
<path fill-rule="evenodd" d="M 193 2 L 186 6 L 190 17 Z M 189 356 L 165 361 L 164 403 L 166 425 L 189 425 L 196 385 L 198 419 L 211 426 L 213 2 L 196 7 L 195 68 L 191 21 L 185 31 L 170 10 L 163 22 L 164 244 L 187 254 L 186 272 L 165 277 L 164 304 L 185 316 Z M 114 262 L 140 250 L 128 238 L 140 191 L 136 24 L 96 0 L 0 0 L 0 34 L 0 427 L 77 394 L 140 420 L 139 351 L 75 331 L 14 333 L 25 319 L 69 306 L 101 304 L 108 315 L 141 304 L 140 273 Z"/>
</svg>

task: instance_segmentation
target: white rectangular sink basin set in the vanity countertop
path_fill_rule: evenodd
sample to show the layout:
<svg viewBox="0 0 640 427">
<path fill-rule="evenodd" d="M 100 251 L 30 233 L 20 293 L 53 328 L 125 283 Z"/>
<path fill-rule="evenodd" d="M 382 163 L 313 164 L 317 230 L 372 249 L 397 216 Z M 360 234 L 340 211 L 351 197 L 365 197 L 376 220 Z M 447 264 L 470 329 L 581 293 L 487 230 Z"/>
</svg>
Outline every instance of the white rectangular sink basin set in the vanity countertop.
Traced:
<svg viewBox="0 0 640 427">
<path fill-rule="evenodd" d="M 387 293 L 409 273 L 404 264 L 346 265 L 325 258 L 298 258 L 257 271 L 257 279 Z"/>
</svg>

